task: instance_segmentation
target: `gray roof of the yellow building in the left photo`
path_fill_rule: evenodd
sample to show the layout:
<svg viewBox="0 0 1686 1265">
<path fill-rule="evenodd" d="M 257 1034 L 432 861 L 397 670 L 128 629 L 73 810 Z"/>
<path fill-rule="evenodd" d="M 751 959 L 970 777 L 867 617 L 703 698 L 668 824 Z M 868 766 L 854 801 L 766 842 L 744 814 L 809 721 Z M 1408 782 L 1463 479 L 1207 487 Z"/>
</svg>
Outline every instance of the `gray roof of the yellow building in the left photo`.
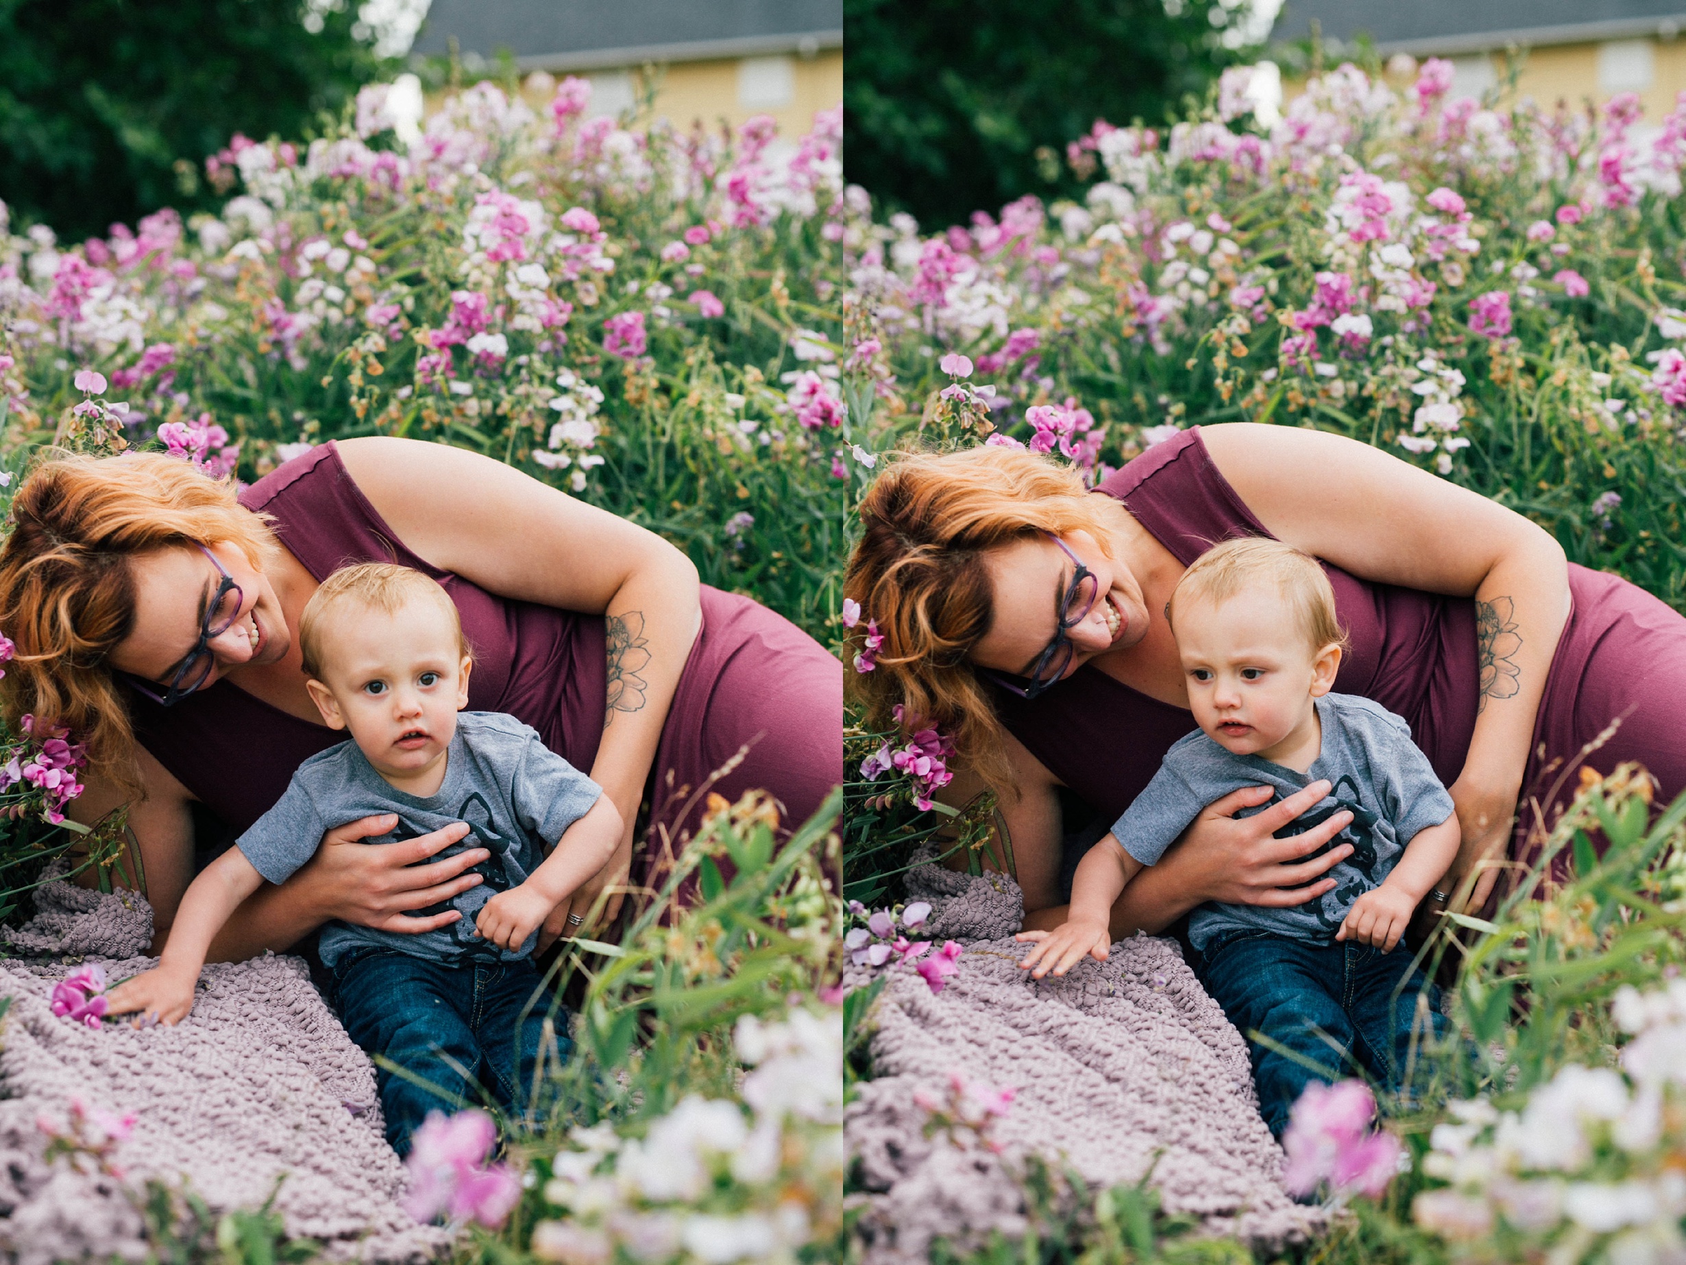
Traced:
<svg viewBox="0 0 1686 1265">
<path fill-rule="evenodd" d="M 843 0 L 433 0 L 413 52 L 587 71 L 843 46 Z"/>
</svg>

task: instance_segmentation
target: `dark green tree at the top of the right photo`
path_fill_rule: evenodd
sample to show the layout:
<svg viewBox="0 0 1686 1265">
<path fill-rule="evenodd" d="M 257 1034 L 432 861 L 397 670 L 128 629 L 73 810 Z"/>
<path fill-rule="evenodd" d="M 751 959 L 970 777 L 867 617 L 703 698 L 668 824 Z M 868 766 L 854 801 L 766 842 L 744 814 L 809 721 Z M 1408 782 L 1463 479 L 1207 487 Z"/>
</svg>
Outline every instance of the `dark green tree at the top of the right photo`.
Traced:
<svg viewBox="0 0 1686 1265">
<path fill-rule="evenodd" d="M 1096 118 L 1158 123 L 1236 61 L 1231 0 L 843 0 L 843 162 L 927 229 L 1071 191 Z"/>
</svg>

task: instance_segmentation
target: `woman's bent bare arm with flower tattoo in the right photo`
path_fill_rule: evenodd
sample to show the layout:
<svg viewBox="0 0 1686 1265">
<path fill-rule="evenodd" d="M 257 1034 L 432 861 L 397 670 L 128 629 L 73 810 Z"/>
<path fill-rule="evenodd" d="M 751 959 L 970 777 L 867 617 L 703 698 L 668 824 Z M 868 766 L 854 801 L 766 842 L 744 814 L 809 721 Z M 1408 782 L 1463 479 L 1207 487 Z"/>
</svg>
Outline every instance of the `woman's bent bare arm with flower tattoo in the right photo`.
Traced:
<svg viewBox="0 0 1686 1265">
<path fill-rule="evenodd" d="M 1538 525 L 1357 440 L 1295 427 L 1202 432 L 1219 472 L 1271 535 L 1366 580 L 1475 599 L 1480 697 L 1457 781 L 1463 880 L 1509 835 L 1546 675 L 1570 614 L 1568 562 Z M 1315 494 L 1308 476 L 1315 474 Z M 1497 877 L 1485 869 L 1472 904 Z"/>
</svg>

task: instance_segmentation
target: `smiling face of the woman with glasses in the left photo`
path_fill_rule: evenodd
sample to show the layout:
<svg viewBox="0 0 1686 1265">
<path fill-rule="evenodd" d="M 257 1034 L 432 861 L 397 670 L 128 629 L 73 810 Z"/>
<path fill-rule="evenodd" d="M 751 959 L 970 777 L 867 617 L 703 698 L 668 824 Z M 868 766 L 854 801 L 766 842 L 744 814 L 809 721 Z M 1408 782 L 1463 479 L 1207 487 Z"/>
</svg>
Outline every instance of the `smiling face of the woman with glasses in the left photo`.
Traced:
<svg viewBox="0 0 1686 1265">
<path fill-rule="evenodd" d="M 239 609 L 223 632 L 206 639 L 211 675 L 199 688 L 248 663 L 277 663 L 292 646 L 280 599 L 263 572 L 236 545 L 206 548 L 239 585 Z M 223 575 L 211 558 L 192 546 L 140 553 L 130 565 L 135 573 L 135 629 L 111 651 L 111 666 L 155 681 L 164 693 L 199 644 L 206 607 Z"/>
</svg>

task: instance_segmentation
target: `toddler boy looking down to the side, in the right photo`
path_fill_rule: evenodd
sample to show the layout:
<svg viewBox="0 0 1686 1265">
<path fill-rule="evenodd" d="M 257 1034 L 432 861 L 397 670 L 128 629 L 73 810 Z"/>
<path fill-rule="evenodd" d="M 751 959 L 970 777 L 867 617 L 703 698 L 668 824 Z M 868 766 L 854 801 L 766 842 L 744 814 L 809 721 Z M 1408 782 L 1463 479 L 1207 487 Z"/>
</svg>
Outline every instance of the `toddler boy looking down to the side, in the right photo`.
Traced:
<svg viewBox="0 0 1686 1265">
<path fill-rule="evenodd" d="M 1344 1063 L 1399 1086 L 1425 990 L 1428 1031 L 1440 1031 L 1433 985 L 1393 950 L 1452 865 L 1458 821 L 1409 725 L 1367 698 L 1330 693 L 1345 636 L 1317 560 L 1276 540 L 1224 541 L 1182 575 L 1167 614 L 1200 730 L 1172 746 L 1077 865 L 1067 921 L 1020 936 L 1037 941 L 1022 965 L 1040 978 L 1084 955 L 1104 960 L 1125 884 L 1209 803 L 1261 784 L 1278 803 L 1327 779 L 1330 796 L 1278 833 L 1350 813 L 1324 848 L 1352 845 L 1329 872 L 1334 889 L 1281 909 L 1207 902 L 1189 919 L 1212 999 L 1238 1029 L 1271 1042 L 1249 1041 L 1259 1108 L 1281 1137 L 1305 1086 L 1347 1074 Z"/>
</svg>

